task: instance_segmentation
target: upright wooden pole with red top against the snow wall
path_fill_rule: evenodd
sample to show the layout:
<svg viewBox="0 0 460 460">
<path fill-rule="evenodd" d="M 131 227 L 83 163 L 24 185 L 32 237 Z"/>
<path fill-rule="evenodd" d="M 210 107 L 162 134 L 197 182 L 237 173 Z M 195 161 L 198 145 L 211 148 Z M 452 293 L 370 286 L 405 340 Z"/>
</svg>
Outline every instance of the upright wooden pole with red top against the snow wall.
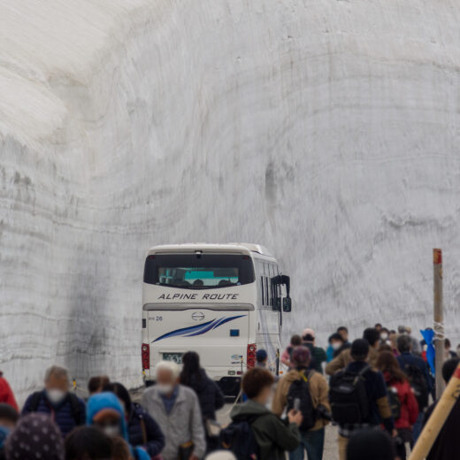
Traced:
<svg viewBox="0 0 460 460">
<path fill-rule="evenodd" d="M 433 249 L 433 294 L 434 294 L 434 349 L 436 351 L 436 398 L 444 390 L 442 364 L 444 364 L 444 314 L 442 311 L 442 251 Z"/>
</svg>

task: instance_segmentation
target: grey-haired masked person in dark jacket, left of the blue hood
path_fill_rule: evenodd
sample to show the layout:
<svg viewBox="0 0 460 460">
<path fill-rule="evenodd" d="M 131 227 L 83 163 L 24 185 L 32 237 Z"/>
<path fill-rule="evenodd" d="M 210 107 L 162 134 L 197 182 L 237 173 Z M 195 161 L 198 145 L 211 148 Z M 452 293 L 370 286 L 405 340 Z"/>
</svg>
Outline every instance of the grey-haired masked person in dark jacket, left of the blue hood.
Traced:
<svg viewBox="0 0 460 460">
<path fill-rule="evenodd" d="M 53 365 L 45 372 L 45 387 L 29 395 L 21 414 L 31 412 L 48 414 L 56 422 L 65 437 L 75 426 L 84 425 L 85 403 L 69 391 L 69 372 Z"/>
</svg>

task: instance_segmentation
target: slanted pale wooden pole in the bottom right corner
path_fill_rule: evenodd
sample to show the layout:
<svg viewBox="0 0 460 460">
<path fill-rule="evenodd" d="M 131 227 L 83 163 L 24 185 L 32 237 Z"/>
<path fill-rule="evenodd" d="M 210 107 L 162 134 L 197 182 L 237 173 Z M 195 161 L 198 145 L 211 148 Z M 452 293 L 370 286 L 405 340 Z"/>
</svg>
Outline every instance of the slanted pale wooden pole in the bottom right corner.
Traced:
<svg viewBox="0 0 460 460">
<path fill-rule="evenodd" d="M 442 426 L 449 417 L 450 411 L 454 407 L 458 396 L 460 395 L 460 364 L 456 368 L 456 372 L 449 381 L 446 391 L 441 396 L 441 399 L 436 404 L 431 417 L 426 422 L 417 444 L 412 449 L 409 460 L 424 460 L 433 447 L 434 441 L 441 432 Z"/>
</svg>

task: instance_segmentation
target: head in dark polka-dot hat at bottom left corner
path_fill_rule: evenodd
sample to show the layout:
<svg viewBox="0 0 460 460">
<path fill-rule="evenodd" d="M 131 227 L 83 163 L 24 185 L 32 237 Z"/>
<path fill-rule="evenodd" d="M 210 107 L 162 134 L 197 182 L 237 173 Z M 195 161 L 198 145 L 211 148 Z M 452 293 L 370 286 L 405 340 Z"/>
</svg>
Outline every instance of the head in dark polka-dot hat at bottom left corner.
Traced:
<svg viewBox="0 0 460 460">
<path fill-rule="evenodd" d="M 64 460 L 64 441 L 50 416 L 40 413 L 20 418 L 5 442 L 6 460 Z"/>
</svg>

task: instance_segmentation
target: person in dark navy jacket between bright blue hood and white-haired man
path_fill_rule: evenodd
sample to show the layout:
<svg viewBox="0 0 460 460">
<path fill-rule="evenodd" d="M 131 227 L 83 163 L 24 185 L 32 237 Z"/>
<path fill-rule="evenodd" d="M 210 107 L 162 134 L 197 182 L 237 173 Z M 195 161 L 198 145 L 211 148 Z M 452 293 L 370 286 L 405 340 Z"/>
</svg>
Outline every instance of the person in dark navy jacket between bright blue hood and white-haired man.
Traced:
<svg viewBox="0 0 460 460">
<path fill-rule="evenodd" d="M 124 407 L 129 443 L 142 447 L 151 457 L 161 454 L 165 447 L 165 435 L 155 419 L 143 410 L 141 404 L 131 401 L 126 387 L 118 382 L 108 383 L 103 387 L 103 391 L 111 391 Z"/>
</svg>

